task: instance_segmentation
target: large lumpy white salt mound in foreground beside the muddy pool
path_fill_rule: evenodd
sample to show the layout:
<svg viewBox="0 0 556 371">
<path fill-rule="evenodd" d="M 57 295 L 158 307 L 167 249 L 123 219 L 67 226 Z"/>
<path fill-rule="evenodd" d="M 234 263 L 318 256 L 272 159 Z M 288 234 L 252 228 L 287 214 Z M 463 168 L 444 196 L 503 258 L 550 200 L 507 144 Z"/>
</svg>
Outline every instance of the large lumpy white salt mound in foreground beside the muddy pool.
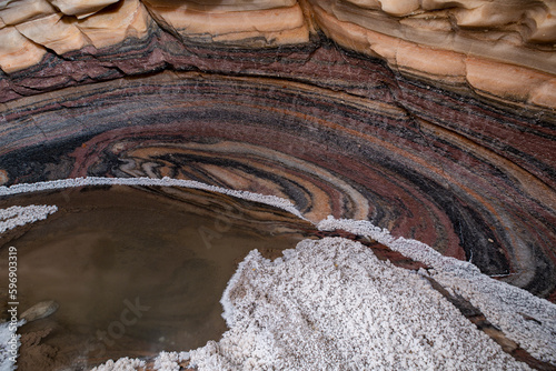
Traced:
<svg viewBox="0 0 556 371">
<path fill-rule="evenodd" d="M 251 251 L 224 293 L 230 328 L 199 370 L 528 370 L 420 274 L 342 238 L 274 262 Z"/>
</svg>

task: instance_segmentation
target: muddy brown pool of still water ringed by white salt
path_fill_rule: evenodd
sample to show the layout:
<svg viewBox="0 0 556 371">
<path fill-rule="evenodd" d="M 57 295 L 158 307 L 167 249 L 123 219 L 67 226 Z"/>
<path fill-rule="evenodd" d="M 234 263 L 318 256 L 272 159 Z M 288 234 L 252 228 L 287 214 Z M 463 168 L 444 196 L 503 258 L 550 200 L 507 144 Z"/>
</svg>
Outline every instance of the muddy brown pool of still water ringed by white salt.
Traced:
<svg viewBox="0 0 556 371">
<path fill-rule="evenodd" d="M 279 255 L 311 229 L 271 207 L 177 188 L 69 189 L 4 198 L 0 208 L 32 203 L 59 211 L 0 237 L 0 277 L 13 245 L 19 312 L 46 300 L 59 309 L 20 329 L 21 370 L 88 369 L 218 340 L 219 300 L 237 263 L 252 249 Z"/>
</svg>

